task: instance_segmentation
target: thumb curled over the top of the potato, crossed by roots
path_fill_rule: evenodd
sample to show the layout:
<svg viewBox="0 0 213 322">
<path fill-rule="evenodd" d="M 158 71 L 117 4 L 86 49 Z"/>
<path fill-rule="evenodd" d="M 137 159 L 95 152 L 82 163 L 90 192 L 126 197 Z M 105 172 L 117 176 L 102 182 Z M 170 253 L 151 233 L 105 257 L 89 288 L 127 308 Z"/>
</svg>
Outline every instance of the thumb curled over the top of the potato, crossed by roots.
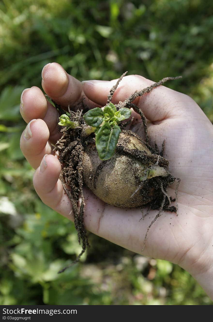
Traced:
<svg viewBox="0 0 213 322">
<path fill-rule="evenodd" d="M 83 90 L 89 99 L 104 106 L 107 102 L 109 91 L 116 82 L 117 80 L 84 81 Z M 119 83 L 112 97 L 112 102 L 117 104 L 119 101 L 124 101 L 136 90 L 140 91 L 153 83 L 153 81 L 139 75 L 125 76 Z M 146 118 L 152 122 L 161 121 L 175 115 L 183 116 L 186 114 L 186 109 L 188 112 L 192 105 L 196 105 L 189 96 L 165 86 L 154 88 L 150 93 L 139 96 L 133 103 L 138 105 L 143 110 Z"/>
</svg>

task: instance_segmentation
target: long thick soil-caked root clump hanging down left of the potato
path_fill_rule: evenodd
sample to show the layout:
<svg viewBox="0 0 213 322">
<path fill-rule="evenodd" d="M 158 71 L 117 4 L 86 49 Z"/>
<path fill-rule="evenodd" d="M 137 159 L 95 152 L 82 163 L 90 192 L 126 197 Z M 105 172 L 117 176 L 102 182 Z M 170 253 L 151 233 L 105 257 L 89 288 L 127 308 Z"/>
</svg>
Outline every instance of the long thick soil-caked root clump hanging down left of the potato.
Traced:
<svg viewBox="0 0 213 322">
<path fill-rule="evenodd" d="M 73 112 L 70 111 L 72 114 Z M 75 113 L 74 113 L 75 114 Z M 77 112 L 74 117 L 81 117 L 81 113 Z M 84 226 L 83 214 L 84 214 L 84 196 L 83 196 L 83 177 L 82 177 L 82 157 L 83 147 L 81 140 L 79 139 L 78 129 L 62 129 L 63 136 L 56 143 L 54 150 L 59 151 L 59 161 L 63 164 L 60 180 L 63 185 L 63 189 L 72 203 L 72 211 L 74 216 L 74 225 L 78 233 L 78 242 L 82 244 L 82 251 L 77 258 L 68 266 L 64 267 L 58 273 L 64 272 L 67 268 L 77 263 L 89 247 L 89 242 L 86 235 L 86 229 Z"/>
</svg>

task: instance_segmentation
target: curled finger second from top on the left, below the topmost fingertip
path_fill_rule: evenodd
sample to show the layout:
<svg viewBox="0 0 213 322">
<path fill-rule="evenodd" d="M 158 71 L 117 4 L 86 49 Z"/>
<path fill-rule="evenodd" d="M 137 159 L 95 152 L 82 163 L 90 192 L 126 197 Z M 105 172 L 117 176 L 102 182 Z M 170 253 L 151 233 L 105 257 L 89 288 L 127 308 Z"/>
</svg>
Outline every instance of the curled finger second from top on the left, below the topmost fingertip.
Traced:
<svg viewBox="0 0 213 322">
<path fill-rule="evenodd" d="M 49 140 L 53 144 L 61 137 L 58 127 L 59 113 L 38 87 L 33 86 L 22 92 L 20 113 L 27 123 L 32 119 L 43 119 L 50 132 Z"/>
</svg>

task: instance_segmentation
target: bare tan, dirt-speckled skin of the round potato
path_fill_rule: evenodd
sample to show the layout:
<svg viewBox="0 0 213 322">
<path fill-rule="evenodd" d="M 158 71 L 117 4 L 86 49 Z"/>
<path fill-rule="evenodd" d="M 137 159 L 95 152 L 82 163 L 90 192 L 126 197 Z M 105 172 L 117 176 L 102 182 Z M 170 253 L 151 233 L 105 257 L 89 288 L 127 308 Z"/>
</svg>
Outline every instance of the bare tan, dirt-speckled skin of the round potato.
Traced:
<svg viewBox="0 0 213 322">
<path fill-rule="evenodd" d="M 122 131 L 118 145 L 139 149 L 151 155 L 148 147 L 139 136 L 131 131 Z M 134 196 L 131 195 L 140 185 L 140 177 L 148 165 L 136 158 L 115 152 L 106 161 L 100 160 L 95 141 L 88 143 L 82 160 L 84 184 L 101 200 L 120 208 L 140 207 L 156 197 L 158 188 L 155 179 L 146 180 Z M 156 186 L 156 189 L 154 188 Z"/>
</svg>

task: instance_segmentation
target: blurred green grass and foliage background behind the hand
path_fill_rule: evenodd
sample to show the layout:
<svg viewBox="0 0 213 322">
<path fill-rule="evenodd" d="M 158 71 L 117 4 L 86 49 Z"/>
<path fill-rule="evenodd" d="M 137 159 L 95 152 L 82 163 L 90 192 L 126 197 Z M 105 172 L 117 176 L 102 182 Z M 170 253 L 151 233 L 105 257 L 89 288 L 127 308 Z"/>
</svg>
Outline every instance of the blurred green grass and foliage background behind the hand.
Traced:
<svg viewBox="0 0 213 322">
<path fill-rule="evenodd" d="M 87 259 L 73 223 L 39 200 L 24 160 L 19 114 L 24 88 L 58 62 L 79 80 L 124 71 L 184 92 L 213 121 L 213 2 L 202 0 L 0 2 L 0 304 L 211 305 L 178 266 L 90 234 Z"/>
</svg>

